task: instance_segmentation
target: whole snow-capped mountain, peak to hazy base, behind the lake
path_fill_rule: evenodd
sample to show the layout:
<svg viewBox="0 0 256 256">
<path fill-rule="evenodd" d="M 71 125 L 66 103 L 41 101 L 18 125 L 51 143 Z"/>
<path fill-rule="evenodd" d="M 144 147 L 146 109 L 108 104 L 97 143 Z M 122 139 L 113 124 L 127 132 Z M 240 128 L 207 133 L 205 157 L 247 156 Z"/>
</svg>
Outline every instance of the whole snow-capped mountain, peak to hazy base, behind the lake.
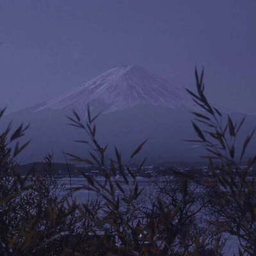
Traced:
<svg viewBox="0 0 256 256">
<path fill-rule="evenodd" d="M 127 163 L 143 157 L 147 157 L 148 163 L 198 161 L 204 153 L 199 145 L 184 141 L 196 137 L 190 113 L 195 110 L 195 104 L 186 90 L 132 65 L 112 68 L 60 97 L 5 116 L 5 125 L 10 120 L 13 124 L 31 124 L 22 139 L 31 138 L 31 144 L 20 161 L 42 161 L 47 152 L 61 162 L 65 161 L 63 152 L 87 157 L 88 148 L 74 142 L 86 140 L 86 133 L 68 126 L 66 116 L 72 115 L 74 109 L 85 118 L 88 104 L 93 114 L 102 112 L 96 122 L 97 138 L 109 145 L 108 157 L 113 157 L 114 146 Z M 249 121 L 246 132 L 256 124 L 254 116 Z M 145 139 L 148 142 L 139 156 L 129 160 L 133 150 Z"/>
</svg>

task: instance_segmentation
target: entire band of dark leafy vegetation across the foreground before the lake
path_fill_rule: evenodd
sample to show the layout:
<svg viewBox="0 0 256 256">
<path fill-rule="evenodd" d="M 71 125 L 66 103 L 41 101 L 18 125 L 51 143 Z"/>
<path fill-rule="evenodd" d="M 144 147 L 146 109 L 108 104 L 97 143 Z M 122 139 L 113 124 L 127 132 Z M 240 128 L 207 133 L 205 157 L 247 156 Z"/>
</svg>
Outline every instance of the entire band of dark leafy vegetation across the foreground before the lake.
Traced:
<svg viewBox="0 0 256 256">
<path fill-rule="evenodd" d="M 172 175 L 156 184 L 147 204 L 140 200 L 143 188 L 137 180 L 146 159 L 136 170 L 122 163 L 117 148 L 115 159 L 106 159 L 108 146 L 97 141 L 97 116 L 91 116 L 89 107 L 86 124 L 75 111 L 68 117 L 70 125 L 86 133 L 88 140 L 77 143 L 89 145 L 88 157 L 65 154 L 104 175 L 99 181 L 82 173 L 88 185 L 76 189 L 90 189 L 98 196 L 83 204 L 77 204 L 74 189 L 64 191 L 58 185 L 51 155 L 45 157 L 43 175 L 36 175 L 35 166 L 20 175 L 15 157 L 28 143 L 20 146 L 17 141 L 28 127 L 20 125 L 11 132 L 9 125 L 0 135 L 0 255 L 217 256 L 224 255 L 228 235 L 238 239 L 236 255 L 256 255 L 255 179 L 248 179 L 256 156 L 246 160 L 243 170 L 240 167 L 254 131 L 237 152 L 244 119 L 234 122 L 214 108 L 204 94 L 204 73 L 196 71 L 195 76 L 197 92 L 188 90 L 199 107 L 193 113 L 198 136 L 193 143 L 208 152 L 203 157 L 209 175 L 196 179 L 193 173 L 168 170 Z M 130 189 L 124 189 L 127 185 Z"/>
</svg>

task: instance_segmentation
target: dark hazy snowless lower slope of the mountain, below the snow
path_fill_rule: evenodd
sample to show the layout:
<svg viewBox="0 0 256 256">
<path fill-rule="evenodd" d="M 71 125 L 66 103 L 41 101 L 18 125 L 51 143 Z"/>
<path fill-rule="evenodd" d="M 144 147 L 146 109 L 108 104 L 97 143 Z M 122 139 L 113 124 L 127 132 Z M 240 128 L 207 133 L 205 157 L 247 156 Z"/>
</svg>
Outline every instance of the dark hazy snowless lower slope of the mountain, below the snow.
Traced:
<svg viewBox="0 0 256 256">
<path fill-rule="evenodd" d="M 22 163 L 42 161 L 47 153 L 54 154 L 54 160 L 65 162 L 62 152 L 70 152 L 81 157 L 88 157 L 88 147 L 74 140 L 88 140 L 86 132 L 67 125 L 69 109 L 44 109 L 42 111 L 20 111 L 15 115 L 6 116 L 1 122 L 13 125 L 20 122 L 30 123 L 22 142 L 31 139 L 29 147 L 19 159 Z M 185 109 L 164 108 L 153 105 L 137 105 L 105 113 L 97 119 L 97 140 L 102 145 L 108 144 L 108 157 L 115 156 L 115 146 L 122 152 L 122 159 L 129 161 L 129 156 L 140 143 L 148 139 L 140 154 L 132 161 L 147 157 L 147 163 L 161 161 L 193 160 L 200 154 L 198 149 L 191 150 L 191 145 L 182 141 L 194 138 L 189 118 Z"/>
</svg>

